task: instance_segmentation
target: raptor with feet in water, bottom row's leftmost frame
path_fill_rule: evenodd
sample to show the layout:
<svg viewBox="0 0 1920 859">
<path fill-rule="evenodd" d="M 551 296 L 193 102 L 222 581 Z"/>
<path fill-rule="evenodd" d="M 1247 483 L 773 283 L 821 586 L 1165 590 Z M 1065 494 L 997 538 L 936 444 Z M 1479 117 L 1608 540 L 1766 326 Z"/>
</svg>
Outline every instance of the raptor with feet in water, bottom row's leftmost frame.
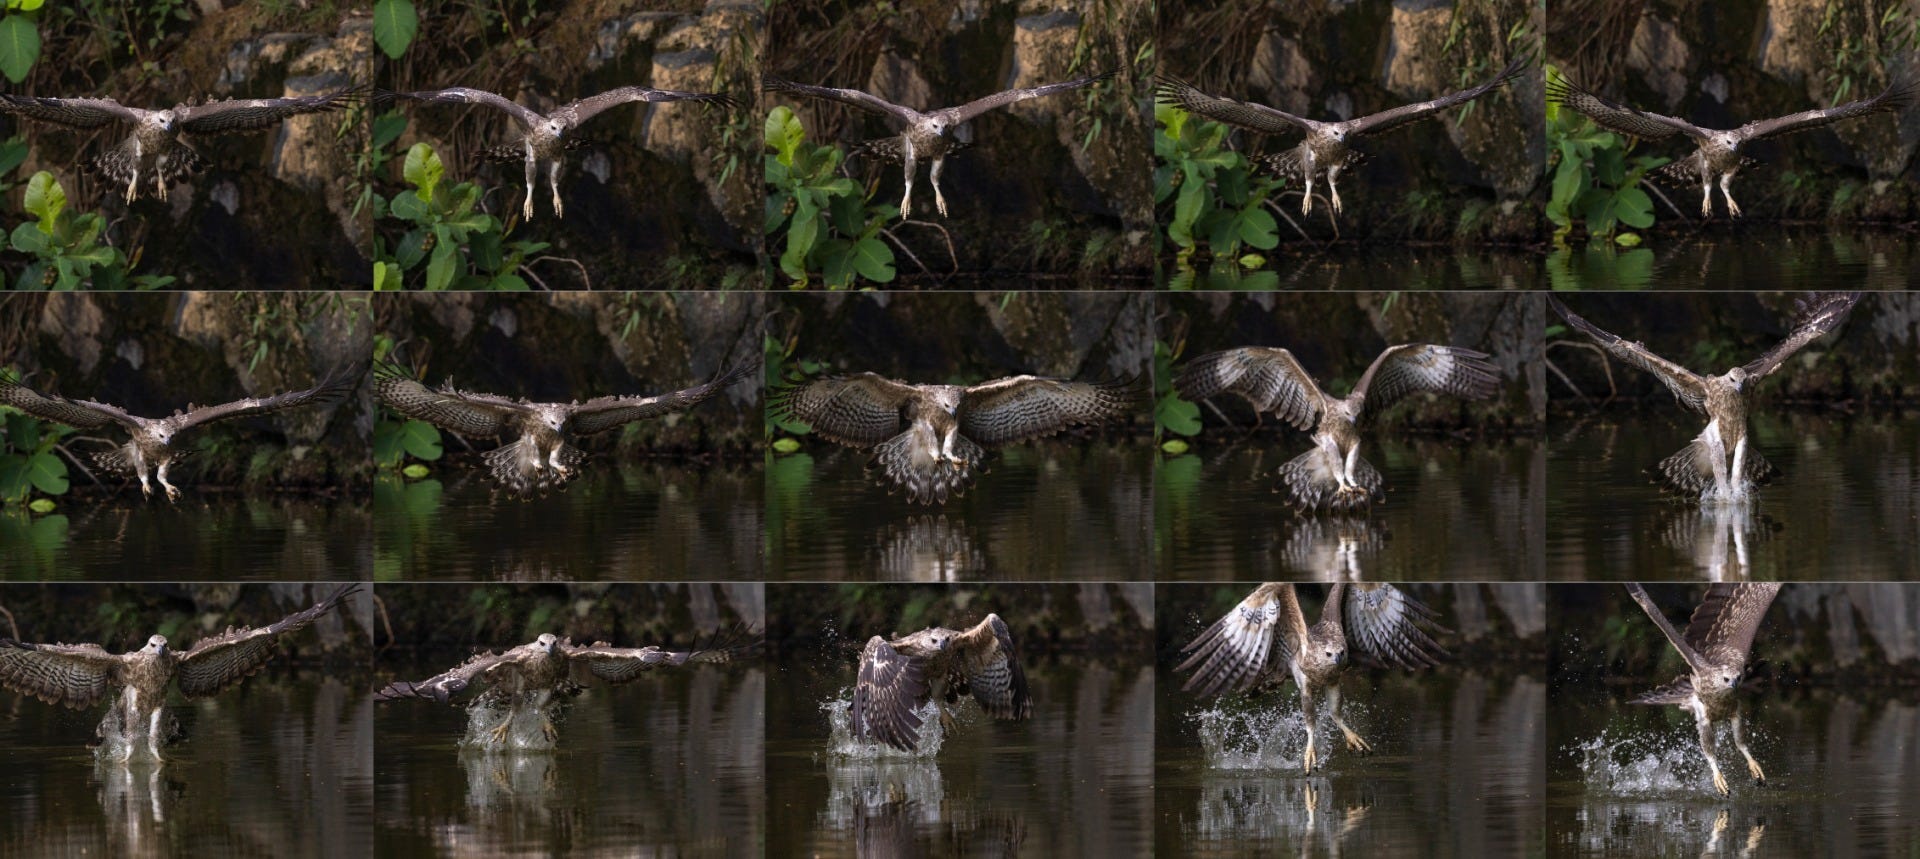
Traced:
<svg viewBox="0 0 1920 859">
<path fill-rule="evenodd" d="M 332 611 L 359 584 L 346 584 L 309 609 L 282 617 L 271 626 L 227 628 L 190 650 L 173 650 L 167 636 L 152 636 L 132 653 L 108 653 L 98 644 L 29 644 L 0 638 L 0 686 L 46 703 L 86 709 L 111 699 L 102 740 L 123 738 L 115 751 L 129 759 L 140 740 L 159 759 L 165 742 L 161 713 L 167 686 L 186 698 L 217 696 L 246 680 L 278 651 L 280 636 L 300 632 Z"/>
</svg>

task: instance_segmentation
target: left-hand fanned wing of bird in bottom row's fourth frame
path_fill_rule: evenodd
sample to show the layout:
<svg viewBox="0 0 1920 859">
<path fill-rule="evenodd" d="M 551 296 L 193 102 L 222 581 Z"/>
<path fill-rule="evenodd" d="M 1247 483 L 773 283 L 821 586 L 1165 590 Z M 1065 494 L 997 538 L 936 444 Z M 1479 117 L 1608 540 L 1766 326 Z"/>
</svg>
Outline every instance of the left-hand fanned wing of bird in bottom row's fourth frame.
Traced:
<svg viewBox="0 0 1920 859">
<path fill-rule="evenodd" d="M 1286 582 L 1261 582 L 1233 611 L 1213 621 L 1181 653 L 1187 661 L 1173 671 L 1192 671 L 1181 686 L 1200 696 L 1244 692 L 1261 676 L 1300 651 L 1308 640 L 1308 619 L 1300 598 Z"/>
</svg>

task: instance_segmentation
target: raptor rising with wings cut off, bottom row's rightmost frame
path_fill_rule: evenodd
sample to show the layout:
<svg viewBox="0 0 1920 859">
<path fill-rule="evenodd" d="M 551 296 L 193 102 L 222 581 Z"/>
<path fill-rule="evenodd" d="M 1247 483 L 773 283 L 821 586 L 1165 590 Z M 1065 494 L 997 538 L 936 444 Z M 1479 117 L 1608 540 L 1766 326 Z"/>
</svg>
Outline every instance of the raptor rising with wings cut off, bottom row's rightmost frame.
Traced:
<svg viewBox="0 0 1920 859">
<path fill-rule="evenodd" d="M 1680 657 L 1686 659 L 1688 675 L 1634 698 L 1632 703 L 1670 703 L 1693 713 L 1699 728 L 1699 751 L 1707 755 L 1707 769 L 1713 771 L 1713 788 L 1728 796 L 1726 776 L 1720 774 L 1720 761 L 1713 755 L 1713 723 L 1732 721 L 1734 748 L 1747 759 L 1747 773 L 1753 784 L 1766 784 L 1766 771 L 1747 749 L 1747 734 L 1741 728 L 1745 705 L 1734 699 L 1740 675 L 1747 671 L 1747 651 L 1753 650 L 1753 634 L 1761 628 L 1766 609 L 1780 596 L 1780 582 L 1718 582 L 1707 586 L 1707 598 L 1693 609 L 1686 634 L 1667 623 L 1647 590 L 1628 582 L 1626 590 L 1634 601 L 1647 611 L 1653 625 L 1667 636 Z"/>
</svg>

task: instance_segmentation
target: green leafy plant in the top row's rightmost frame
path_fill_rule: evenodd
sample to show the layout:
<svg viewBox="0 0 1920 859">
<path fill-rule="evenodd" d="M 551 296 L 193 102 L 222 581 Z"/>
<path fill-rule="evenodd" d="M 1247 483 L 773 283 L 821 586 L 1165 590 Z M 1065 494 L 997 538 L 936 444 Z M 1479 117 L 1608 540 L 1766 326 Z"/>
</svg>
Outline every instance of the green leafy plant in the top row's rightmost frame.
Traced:
<svg viewBox="0 0 1920 859">
<path fill-rule="evenodd" d="M 1559 75 L 1548 67 L 1548 75 Z M 1586 115 L 1548 102 L 1548 165 L 1553 173 L 1553 196 L 1548 200 L 1548 219 L 1553 221 L 1553 240 L 1565 244 L 1574 223 L 1588 238 L 1611 238 L 1622 246 L 1640 244 L 1634 233 L 1653 227 L 1653 198 L 1642 188 L 1642 179 L 1667 158 L 1630 156 L 1632 144 L 1594 125 Z"/>
</svg>

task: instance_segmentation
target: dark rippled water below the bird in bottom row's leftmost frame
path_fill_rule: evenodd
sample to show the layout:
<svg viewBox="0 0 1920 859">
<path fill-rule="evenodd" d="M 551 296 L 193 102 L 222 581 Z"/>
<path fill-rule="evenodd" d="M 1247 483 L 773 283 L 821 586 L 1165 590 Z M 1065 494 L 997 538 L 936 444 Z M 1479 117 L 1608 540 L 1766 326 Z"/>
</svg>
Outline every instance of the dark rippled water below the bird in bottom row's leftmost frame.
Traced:
<svg viewBox="0 0 1920 859">
<path fill-rule="evenodd" d="M 175 696 L 186 738 L 96 763 L 106 707 L 0 692 L 0 855 L 338 857 L 372 851 L 372 696 L 363 678 L 261 675 Z"/>
</svg>

